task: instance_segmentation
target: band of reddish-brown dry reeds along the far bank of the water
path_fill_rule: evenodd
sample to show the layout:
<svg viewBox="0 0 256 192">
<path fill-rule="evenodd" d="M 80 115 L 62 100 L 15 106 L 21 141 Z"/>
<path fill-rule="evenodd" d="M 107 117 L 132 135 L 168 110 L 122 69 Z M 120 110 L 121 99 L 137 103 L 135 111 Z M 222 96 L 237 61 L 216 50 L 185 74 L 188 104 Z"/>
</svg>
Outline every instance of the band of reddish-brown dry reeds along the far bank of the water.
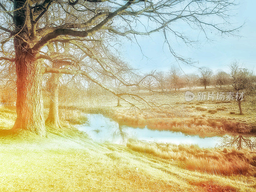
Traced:
<svg viewBox="0 0 256 192">
<path fill-rule="evenodd" d="M 216 113 L 217 109 L 209 110 Z M 163 114 L 156 111 L 127 111 L 116 110 L 108 114 L 112 119 L 131 126 L 145 126 L 150 129 L 180 131 L 201 137 L 223 135 L 226 132 L 250 133 L 252 126 L 224 118 L 207 118 L 205 115 L 197 117 L 177 116 L 177 114 Z"/>
</svg>

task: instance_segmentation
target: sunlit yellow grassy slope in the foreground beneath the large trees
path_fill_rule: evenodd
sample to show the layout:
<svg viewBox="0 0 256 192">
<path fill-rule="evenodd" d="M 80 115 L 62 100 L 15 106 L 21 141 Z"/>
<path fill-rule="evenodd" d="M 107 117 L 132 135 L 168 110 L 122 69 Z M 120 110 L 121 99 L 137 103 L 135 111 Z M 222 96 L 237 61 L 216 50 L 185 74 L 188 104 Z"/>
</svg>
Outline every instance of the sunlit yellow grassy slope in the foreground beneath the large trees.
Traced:
<svg viewBox="0 0 256 192">
<path fill-rule="evenodd" d="M 14 118 L 13 110 L 0 108 L 1 126 L 10 128 Z M 188 171 L 125 146 L 95 143 L 68 125 L 51 132 L 1 135 L 0 191 L 256 191 L 252 177 Z"/>
</svg>

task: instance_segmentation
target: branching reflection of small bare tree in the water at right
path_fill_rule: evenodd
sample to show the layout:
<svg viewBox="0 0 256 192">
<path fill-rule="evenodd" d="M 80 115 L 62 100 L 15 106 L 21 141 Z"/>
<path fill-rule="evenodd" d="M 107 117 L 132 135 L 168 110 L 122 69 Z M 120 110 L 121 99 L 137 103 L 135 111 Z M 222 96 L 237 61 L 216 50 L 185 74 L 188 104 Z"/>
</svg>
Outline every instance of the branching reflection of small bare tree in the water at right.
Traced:
<svg viewBox="0 0 256 192">
<path fill-rule="evenodd" d="M 256 140 L 252 136 L 236 135 L 223 137 L 221 147 L 236 147 L 238 150 L 242 148 L 256 149 Z"/>
</svg>

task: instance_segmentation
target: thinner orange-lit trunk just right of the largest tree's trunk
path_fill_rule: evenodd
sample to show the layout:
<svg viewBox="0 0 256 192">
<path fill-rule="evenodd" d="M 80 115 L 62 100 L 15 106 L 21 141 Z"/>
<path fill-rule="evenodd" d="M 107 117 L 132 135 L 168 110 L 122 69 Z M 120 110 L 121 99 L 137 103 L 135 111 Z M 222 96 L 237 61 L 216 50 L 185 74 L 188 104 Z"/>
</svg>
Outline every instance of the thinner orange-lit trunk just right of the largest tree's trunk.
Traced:
<svg viewBox="0 0 256 192">
<path fill-rule="evenodd" d="M 49 82 L 51 92 L 49 115 L 45 121 L 45 124 L 58 128 L 61 127 L 59 119 L 59 78 L 59 74 L 52 73 Z"/>
</svg>

